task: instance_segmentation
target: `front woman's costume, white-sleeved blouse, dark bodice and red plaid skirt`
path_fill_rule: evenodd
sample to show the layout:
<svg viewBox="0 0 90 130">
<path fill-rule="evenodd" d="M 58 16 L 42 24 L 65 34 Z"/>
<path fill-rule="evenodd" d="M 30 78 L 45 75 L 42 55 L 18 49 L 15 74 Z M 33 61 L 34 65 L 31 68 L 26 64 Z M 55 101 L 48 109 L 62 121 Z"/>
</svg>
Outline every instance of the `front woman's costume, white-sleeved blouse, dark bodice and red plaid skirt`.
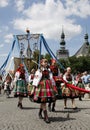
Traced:
<svg viewBox="0 0 90 130">
<path fill-rule="evenodd" d="M 47 103 L 55 100 L 55 82 L 50 69 L 40 68 L 36 71 L 32 85 L 35 87 L 34 102 Z"/>
</svg>

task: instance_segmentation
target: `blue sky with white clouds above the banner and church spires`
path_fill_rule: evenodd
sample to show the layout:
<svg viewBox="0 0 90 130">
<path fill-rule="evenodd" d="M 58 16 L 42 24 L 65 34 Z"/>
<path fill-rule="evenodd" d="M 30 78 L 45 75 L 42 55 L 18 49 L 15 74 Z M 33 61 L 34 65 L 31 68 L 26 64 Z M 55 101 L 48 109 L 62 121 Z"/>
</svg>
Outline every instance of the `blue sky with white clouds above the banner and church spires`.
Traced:
<svg viewBox="0 0 90 130">
<path fill-rule="evenodd" d="M 90 0 L 0 0 L 0 65 L 13 35 L 25 34 L 27 28 L 32 34 L 43 34 L 55 55 L 63 29 L 66 49 L 73 56 L 83 45 L 85 33 L 90 37 Z"/>
</svg>

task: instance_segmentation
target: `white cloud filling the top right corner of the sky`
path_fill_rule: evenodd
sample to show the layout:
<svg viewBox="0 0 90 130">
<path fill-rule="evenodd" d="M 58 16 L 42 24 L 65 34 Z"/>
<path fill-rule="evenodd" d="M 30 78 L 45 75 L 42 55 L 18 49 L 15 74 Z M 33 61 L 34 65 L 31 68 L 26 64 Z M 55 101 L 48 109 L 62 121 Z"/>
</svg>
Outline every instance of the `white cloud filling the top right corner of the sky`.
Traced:
<svg viewBox="0 0 90 130">
<path fill-rule="evenodd" d="M 81 18 L 90 16 L 90 0 L 66 0 L 67 13 Z"/>
</svg>

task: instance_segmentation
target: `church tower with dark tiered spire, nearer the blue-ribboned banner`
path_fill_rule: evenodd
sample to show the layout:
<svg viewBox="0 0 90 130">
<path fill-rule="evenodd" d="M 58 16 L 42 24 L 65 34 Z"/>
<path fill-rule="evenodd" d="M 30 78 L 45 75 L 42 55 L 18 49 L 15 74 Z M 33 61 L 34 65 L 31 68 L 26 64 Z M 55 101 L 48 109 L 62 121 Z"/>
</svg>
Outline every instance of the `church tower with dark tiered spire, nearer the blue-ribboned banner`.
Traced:
<svg viewBox="0 0 90 130">
<path fill-rule="evenodd" d="M 66 50 L 65 45 L 65 34 L 64 31 L 62 29 L 62 33 L 61 33 L 61 41 L 60 41 L 60 49 L 57 50 L 56 55 L 57 55 L 57 59 L 67 59 L 69 57 L 69 51 Z"/>
</svg>

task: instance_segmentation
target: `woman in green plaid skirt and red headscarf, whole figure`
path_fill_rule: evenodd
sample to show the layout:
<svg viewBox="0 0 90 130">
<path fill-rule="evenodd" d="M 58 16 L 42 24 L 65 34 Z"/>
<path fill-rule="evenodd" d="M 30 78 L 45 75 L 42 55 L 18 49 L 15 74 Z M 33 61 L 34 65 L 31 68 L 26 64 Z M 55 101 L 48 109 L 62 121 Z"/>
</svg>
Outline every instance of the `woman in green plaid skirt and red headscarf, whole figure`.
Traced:
<svg viewBox="0 0 90 130">
<path fill-rule="evenodd" d="M 23 97 L 27 96 L 26 73 L 23 64 L 20 64 L 19 68 L 16 70 L 14 82 L 14 96 L 19 97 L 17 106 L 22 109 Z"/>
</svg>

